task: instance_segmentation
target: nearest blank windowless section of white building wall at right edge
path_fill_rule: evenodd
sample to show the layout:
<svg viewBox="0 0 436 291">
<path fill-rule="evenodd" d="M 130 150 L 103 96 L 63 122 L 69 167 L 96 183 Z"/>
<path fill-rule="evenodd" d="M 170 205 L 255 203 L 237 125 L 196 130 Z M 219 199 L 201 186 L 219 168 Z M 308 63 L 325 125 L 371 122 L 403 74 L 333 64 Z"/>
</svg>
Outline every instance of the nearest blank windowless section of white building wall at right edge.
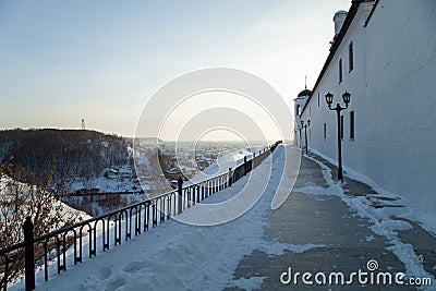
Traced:
<svg viewBox="0 0 436 291">
<path fill-rule="evenodd" d="M 366 29 L 370 178 L 436 214 L 436 1 L 380 1 Z"/>
</svg>

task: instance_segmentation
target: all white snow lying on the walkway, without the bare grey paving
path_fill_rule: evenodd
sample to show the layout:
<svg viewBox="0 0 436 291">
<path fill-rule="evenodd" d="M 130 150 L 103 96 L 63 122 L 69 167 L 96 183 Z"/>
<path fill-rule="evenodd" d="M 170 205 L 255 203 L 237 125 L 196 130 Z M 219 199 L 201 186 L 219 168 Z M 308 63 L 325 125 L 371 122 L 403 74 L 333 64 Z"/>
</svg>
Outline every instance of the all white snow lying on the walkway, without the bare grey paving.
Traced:
<svg viewBox="0 0 436 291">
<path fill-rule="evenodd" d="M 232 198 L 238 193 L 255 192 L 264 189 L 264 177 L 270 173 L 264 194 L 257 203 L 244 215 L 227 223 L 213 227 L 199 227 L 169 220 L 152 231 L 122 243 L 120 246 L 98 254 L 93 259 L 85 260 L 77 266 L 69 266 L 66 272 L 60 276 L 50 270 L 50 280 L 44 282 L 43 274 L 37 274 L 37 290 L 221 290 L 226 287 L 238 287 L 251 290 L 258 288 L 265 278 L 233 280 L 233 271 L 244 255 L 254 250 L 267 254 L 280 255 L 284 251 L 305 252 L 325 245 L 291 245 L 264 240 L 264 230 L 269 226 L 267 215 L 271 211 L 272 195 L 279 185 L 279 179 L 286 165 L 283 146 L 279 146 L 271 159 L 265 160 L 251 175 L 242 178 L 231 187 L 218 192 L 207 198 L 204 204 L 220 203 Z M 318 161 L 317 161 L 318 162 Z M 338 195 L 352 209 L 370 219 L 374 225 L 372 230 L 385 235 L 391 243 L 393 252 L 407 267 L 407 271 L 414 276 L 431 277 L 422 267 L 420 258 L 414 255 L 410 245 L 402 244 L 396 237 L 395 230 L 408 228 L 407 222 L 391 220 L 392 211 L 401 211 L 409 217 L 416 209 L 409 202 L 404 202 L 402 209 L 374 209 L 368 206 L 364 197 L 347 196 L 342 187 L 331 181 L 329 169 L 320 163 L 328 189 L 316 185 L 306 185 L 299 192 L 314 195 Z M 270 172 L 270 169 L 271 172 Z M 250 182 L 247 183 L 250 179 Z M 367 181 L 365 181 L 367 182 Z M 291 190 L 291 189 L 289 189 Z M 379 191 L 379 190 L 377 190 Z M 388 195 L 388 193 L 382 193 Z M 207 211 L 199 207 L 191 207 L 181 216 L 202 216 Z M 399 213 L 395 214 L 401 216 Z M 427 230 L 435 229 L 435 220 L 414 217 Z M 368 237 L 367 240 L 372 238 Z M 19 283 L 12 289 L 22 289 Z"/>
</svg>

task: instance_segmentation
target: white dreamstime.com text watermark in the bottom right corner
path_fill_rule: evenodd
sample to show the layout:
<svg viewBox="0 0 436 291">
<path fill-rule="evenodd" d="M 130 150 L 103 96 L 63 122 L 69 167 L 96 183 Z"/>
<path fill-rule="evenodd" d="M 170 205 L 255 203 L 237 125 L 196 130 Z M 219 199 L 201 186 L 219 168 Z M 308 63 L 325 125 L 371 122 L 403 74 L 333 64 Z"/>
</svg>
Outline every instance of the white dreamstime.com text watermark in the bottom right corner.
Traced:
<svg viewBox="0 0 436 291">
<path fill-rule="evenodd" d="M 370 259 L 366 263 L 366 270 L 358 269 L 348 275 L 341 271 L 293 272 L 292 267 L 289 267 L 288 271 L 280 275 L 280 282 L 294 286 L 349 286 L 353 283 L 361 286 L 432 286 L 431 278 L 408 278 L 404 272 L 392 274 L 377 270 L 378 262 L 375 259 Z"/>
</svg>

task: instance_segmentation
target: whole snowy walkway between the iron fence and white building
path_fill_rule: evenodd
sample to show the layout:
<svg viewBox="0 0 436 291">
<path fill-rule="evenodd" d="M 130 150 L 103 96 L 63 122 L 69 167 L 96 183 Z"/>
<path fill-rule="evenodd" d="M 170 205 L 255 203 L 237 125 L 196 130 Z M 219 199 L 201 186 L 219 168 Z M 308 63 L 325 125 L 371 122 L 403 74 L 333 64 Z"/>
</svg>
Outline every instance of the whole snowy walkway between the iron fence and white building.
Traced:
<svg viewBox="0 0 436 291">
<path fill-rule="evenodd" d="M 291 146 L 276 149 L 272 179 L 265 194 L 238 219 L 215 227 L 170 220 L 60 276 L 53 275 L 48 282 L 37 276 L 37 290 L 343 290 L 338 284 L 308 288 L 301 281 L 284 286 L 280 276 L 289 267 L 295 272 L 350 274 L 366 270 L 371 259 L 378 263 L 377 271 L 429 277 L 434 288 L 436 238 L 429 234 L 435 233 L 434 220 L 375 185 L 347 178 L 346 185 L 339 186 L 331 180 L 332 166 L 315 156 L 302 159 L 294 189 L 287 181 L 279 185 L 286 151 L 289 157 L 296 156 L 296 150 Z M 265 180 L 270 166 L 270 159 L 265 160 L 251 173 L 252 181 Z M 247 179 L 206 202 L 226 201 L 239 191 L 256 192 L 262 182 L 243 189 Z M 281 207 L 271 210 L 278 187 L 292 193 Z M 183 215 L 194 216 L 196 208 Z M 359 283 L 346 289 L 362 287 L 414 290 Z"/>
</svg>

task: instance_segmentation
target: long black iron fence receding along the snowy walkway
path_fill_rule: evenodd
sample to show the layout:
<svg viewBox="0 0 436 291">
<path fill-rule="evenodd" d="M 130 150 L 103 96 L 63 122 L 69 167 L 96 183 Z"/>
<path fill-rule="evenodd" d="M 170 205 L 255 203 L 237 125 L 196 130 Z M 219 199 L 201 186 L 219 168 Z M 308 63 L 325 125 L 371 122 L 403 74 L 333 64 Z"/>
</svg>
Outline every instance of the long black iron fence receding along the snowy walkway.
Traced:
<svg viewBox="0 0 436 291">
<path fill-rule="evenodd" d="M 35 289 L 35 270 L 44 269 L 44 277 L 49 279 L 49 266 L 57 264 L 57 271 L 66 270 L 66 250 L 72 247 L 72 262 L 76 265 L 84 257 L 92 258 L 97 251 L 105 252 L 111 246 L 117 246 L 123 241 L 129 241 L 133 235 L 147 232 L 164 223 L 172 216 L 181 214 L 184 209 L 199 203 L 214 193 L 229 187 L 257 167 L 280 144 L 276 142 L 258 153 L 252 153 L 249 160 L 229 168 L 226 173 L 210 179 L 183 186 L 179 179 L 178 189 L 116 211 L 90 218 L 85 221 L 61 228 L 38 238 L 34 238 L 34 226 L 29 217 L 23 223 L 24 242 L 0 250 L 1 288 L 5 291 L 11 280 L 11 270 L 19 269 L 25 277 L 26 290 Z"/>
</svg>

